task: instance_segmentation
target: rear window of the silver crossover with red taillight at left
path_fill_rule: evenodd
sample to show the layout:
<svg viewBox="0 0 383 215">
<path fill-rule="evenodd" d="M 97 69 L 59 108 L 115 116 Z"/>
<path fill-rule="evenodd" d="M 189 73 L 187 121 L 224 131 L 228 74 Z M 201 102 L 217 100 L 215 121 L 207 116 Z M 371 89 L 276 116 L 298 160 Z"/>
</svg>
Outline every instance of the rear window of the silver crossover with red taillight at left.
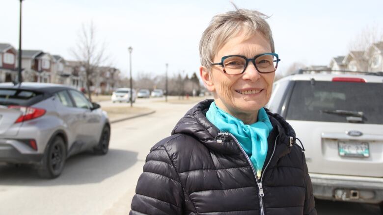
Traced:
<svg viewBox="0 0 383 215">
<path fill-rule="evenodd" d="M 28 106 L 34 104 L 42 96 L 42 93 L 23 89 L 0 89 L 0 105 Z"/>
</svg>

